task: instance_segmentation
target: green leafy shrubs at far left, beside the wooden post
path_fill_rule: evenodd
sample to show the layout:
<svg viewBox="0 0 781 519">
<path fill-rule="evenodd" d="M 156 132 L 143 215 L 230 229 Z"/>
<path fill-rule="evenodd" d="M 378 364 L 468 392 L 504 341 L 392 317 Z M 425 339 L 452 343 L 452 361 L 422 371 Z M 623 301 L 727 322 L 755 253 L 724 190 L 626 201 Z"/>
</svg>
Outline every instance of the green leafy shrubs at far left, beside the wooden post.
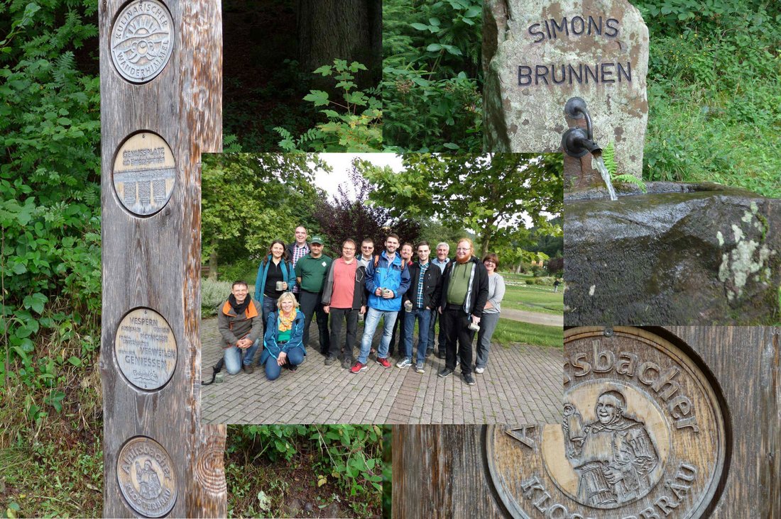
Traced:
<svg viewBox="0 0 781 519">
<path fill-rule="evenodd" d="M 95 2 L 0 7 L 0 384 L 27 393 L 30 420 L 62 410 L 64 366 L 87 363 L 100 281 L 99 81 L 78 49 L 97 37 Z M 5 341 L 4 341 L 5 342 Z"/>
</svg>

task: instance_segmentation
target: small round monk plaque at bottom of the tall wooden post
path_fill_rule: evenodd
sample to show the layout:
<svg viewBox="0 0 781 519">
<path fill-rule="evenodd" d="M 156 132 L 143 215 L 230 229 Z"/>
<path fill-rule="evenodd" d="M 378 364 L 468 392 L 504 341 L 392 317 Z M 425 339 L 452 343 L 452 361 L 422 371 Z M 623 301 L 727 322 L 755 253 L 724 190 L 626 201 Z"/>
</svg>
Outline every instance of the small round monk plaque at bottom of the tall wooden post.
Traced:
<svg viewBox="0 0 781 519">
<path fill-rule="evenodd" d="M 128 440 L 116 464 L 119 489 L 144 517 L 162 517 L 177 502 L 177 475 L 166 450 L 146 436 Z"/>
</svg>

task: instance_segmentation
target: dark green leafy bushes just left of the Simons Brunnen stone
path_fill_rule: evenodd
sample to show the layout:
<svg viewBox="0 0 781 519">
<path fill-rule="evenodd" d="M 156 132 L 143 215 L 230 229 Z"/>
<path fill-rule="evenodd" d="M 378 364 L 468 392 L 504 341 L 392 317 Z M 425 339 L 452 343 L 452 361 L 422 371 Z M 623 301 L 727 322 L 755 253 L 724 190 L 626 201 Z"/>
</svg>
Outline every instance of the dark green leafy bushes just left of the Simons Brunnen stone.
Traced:
<svg viewBox="0 0 781 519">
<path fill-rule="evenodd" d="M 394 151 L 481 151 L 482 2 L 383 2 L 383 138 Z"/>
</svg>

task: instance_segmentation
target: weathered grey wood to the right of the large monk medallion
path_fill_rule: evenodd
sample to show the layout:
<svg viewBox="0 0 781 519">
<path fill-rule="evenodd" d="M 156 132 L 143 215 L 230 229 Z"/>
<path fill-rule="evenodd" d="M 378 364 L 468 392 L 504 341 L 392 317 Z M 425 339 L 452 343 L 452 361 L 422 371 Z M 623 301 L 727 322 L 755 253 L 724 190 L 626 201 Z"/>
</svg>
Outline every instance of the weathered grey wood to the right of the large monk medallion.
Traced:
<svg viewBox="0 0 781 519">
<path fill-rule="evenodd" d="M 781 517 L 779 330 L 668 330 L 697 352 L 718 381 L 732 427 L 726 482 L 711 517 Z"/>
</svg>

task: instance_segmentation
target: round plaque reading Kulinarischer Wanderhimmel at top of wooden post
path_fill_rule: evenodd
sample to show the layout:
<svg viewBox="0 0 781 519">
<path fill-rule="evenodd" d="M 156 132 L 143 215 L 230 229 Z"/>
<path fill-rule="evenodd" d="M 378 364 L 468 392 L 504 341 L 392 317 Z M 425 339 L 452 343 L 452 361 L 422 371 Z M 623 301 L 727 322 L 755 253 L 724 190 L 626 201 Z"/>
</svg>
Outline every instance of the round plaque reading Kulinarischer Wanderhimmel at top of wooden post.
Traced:
<svg viewBox="0 0 781 519">
<path fill-rule="evenodd" d="M 173 51 L 171 13 L 158 0 L 125 5 L 111 30 L 111 59 L 131 83 L 146 83 L 165 68 Z"/>
</svg>

